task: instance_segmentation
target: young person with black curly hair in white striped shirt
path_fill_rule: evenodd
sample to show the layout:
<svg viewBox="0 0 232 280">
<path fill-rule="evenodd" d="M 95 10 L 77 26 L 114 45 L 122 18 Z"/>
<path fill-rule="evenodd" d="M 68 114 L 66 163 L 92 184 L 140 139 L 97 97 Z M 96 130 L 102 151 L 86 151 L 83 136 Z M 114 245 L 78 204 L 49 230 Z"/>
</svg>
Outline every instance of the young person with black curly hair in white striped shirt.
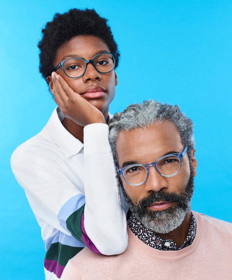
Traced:
<svg viewBox="0 0 232 280">
<path fill-rule="evenodd" d="M 58 107 L 11 166 L 41 227 L 46 279 L 54 280 L 85 246 L 105 255 L 127 246 L 107 125 L 119 52 L 95 10 L 57 13 L 42 33 L 40 72 Z"/>
</svg>

